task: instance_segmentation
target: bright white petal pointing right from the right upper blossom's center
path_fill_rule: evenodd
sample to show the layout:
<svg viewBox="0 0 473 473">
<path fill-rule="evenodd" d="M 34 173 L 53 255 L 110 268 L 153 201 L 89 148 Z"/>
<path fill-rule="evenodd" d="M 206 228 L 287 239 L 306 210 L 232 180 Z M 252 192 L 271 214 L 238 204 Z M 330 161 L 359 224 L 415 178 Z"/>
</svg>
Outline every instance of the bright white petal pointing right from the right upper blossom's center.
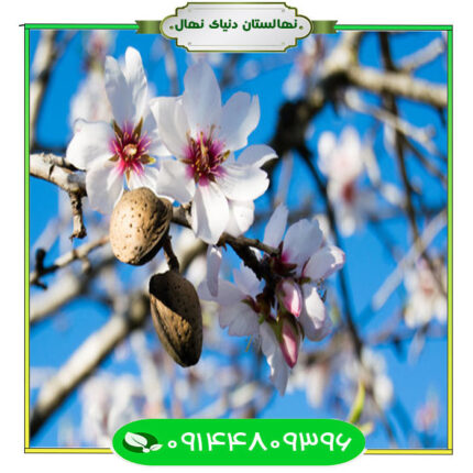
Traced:
<svg viewBox="0 0 473 473">
<path fill-rule="evenodd" d="M 264 170 L 239 164 L 222 165 L 222 172 L 216 177 L 216 182 L 232 200 L 254 200 L 262 196 L 270 185 Z"/>
</svg>

